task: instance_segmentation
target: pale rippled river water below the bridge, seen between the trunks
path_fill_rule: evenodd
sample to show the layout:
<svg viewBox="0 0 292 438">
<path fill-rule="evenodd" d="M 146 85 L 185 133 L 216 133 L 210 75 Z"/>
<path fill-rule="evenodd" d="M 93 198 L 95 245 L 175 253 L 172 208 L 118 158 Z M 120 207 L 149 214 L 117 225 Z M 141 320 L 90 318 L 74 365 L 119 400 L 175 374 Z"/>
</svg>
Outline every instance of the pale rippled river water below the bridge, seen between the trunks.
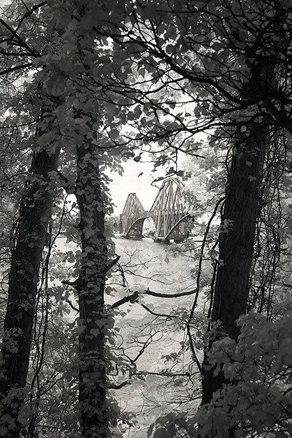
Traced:
<svg viewBox="0 0 292 438">
<path fill-rule="evenodd" d="M 127 430 L 123 437 L 143 438 L 147 437 L 147 428 L 156 417 L 169 413 L 175 401 L 184 397 L 180 385 L 175 387 L 168 376 L 156 376 L 155 373 L 172 365 L 172 372 L 180 374 L 182 370 L 188 369 L 190 362 L 188 355 L 181 358 L 179 364 L 162 358 L 163 355 L 171 356 L 180 351 L 186 337 L 178 324 L 174 323 L 173 326 L 175 320 L 156 318 L 153 313 L 184 315 L 185 312 L 187 318 L 194 299 L 193 295 L 162 298 L 143 292 L 148 288 L 151 292 L 171 295 L 195 289 L 195 281 L 190 274 L 194 262 L 182 255 L 170 255 L 168 246 L 154 243 L 150 237 L 143 240 L 118 237 L 114 242 L 117 254 L 121 255 L 120 263 L 127 284 L 125 287 L 115 285 L 117 295 L 111 300 L 114 302 L 130 294 L 127 292 L 129 289 L 131 292 L 139 292 L 138 302 L 125 303 L 119 307 L 122 317 L 117 316 L 116 325 L 125 342 L 125 353 L 134 359 L 141 351 L 143 343 L 151 338 L 149 346 L 136 361 L 136 370 L 144 373 L 145 378 L 132 379 L 131 385 L 114 391 L 114 397 L 122 409 L 133 411 L 137 415 L 139 426 Z M 119 281 L 121 283 L 121 279 Z"/>
</svg>

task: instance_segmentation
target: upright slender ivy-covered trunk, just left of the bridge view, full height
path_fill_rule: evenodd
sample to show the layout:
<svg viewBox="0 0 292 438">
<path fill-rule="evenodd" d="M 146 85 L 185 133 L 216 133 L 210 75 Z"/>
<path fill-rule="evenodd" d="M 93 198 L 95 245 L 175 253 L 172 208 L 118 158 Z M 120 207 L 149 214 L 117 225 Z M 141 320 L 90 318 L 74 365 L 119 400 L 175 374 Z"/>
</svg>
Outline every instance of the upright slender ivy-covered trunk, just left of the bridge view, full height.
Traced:
<svg viewBox="0 0 292 438">
<path fill-rule="evenodd" d="M 82 438 L 108 438 L 108 406 L 106 400 L 106 314 L 104 289 L 108 250 L 105 236 L 105 195 L 99 165 L 101 151 L 97 146 L 97 128 L 101 123 L 98 104 L 99 90 L 95 90 L 99 66 L 95 38 L 97 30 L 88 29 L 101 5 L 94 1 L 75 1 L 70 35 L 75 60 L 72 96 L 77 181 L 75 194 L 80 210 L 81 259 L 80 275 L 75 283 L 80 309 L 79 335 L 79 417 Z M 97 14 L 98 16 L 98 14 Z M 74 42 L 74 44 L 73 44 Z M 93 80 L 94 78 L 94 80 Z M 95 100 L 96 99 L 96 100 Z M 79 104 L 82 102 L 82 105 Z M 94 128 L 95 126 L 95 128 Z M 105 153 L 105 152 L 104 152 Z"/>
</svg>

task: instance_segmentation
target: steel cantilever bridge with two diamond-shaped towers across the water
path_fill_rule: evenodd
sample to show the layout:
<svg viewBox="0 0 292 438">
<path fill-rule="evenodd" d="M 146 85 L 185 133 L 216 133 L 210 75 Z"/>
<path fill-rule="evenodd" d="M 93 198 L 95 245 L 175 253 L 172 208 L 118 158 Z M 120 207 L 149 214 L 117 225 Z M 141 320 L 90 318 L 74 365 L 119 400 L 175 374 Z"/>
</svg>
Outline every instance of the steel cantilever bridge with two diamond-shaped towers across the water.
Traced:
<svg viewBox="0 0 292 438">
<path fill-rule="evenodd" d="M 129 193 L 121 214 L 123 237 L 141 239 L 145 219 L 153 218 L 156 227 L 154 242 L 184 240 L 190 215 L 182 203 L 183 192 L 184 184 L 180 179 L 165 179 L 149 211 L 143 209 L 136 193 Z"/>
</svg>

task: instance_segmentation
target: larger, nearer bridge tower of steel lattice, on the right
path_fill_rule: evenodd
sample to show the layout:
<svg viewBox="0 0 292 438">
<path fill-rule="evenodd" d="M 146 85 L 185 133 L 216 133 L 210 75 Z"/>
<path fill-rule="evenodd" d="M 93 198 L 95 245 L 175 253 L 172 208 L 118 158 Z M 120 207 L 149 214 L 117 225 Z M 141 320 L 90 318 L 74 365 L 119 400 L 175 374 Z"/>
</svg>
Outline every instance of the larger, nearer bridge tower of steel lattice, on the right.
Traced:
<svg viewBox="0 0 292 438">
<path fill-rule="evenodd" d="M 184 184 L 177 177 L 163 181 L 156 199 L 150 209 L 156 226 L 156 242 L 181 242 L 187 235 L 186 222 L 190 215 L 182 204 Z"/>
</svg>

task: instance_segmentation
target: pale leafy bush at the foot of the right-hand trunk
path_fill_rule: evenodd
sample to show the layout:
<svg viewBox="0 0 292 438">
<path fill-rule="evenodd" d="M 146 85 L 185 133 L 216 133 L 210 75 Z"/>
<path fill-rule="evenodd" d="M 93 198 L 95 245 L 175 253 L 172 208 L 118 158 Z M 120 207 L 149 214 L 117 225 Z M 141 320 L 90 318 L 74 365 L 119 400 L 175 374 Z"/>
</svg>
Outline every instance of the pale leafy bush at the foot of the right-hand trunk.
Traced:
<svg viewBox="0 0 292 438">
<path fill-rule="evenodd" d="M 218 393 L 221 402 L 211 406 L 209 413 L 212 419 L 221 421 L 231 405 L 234 409 L 230 420 L 236 422 L 240 417 L 263 431 L 265 427 L 273 428 L 281 415 L 280 406 L 289 403 L 286 388 L 292 365 L 291 305 L 275 322 L 267 321 L 260 313 L 249 313 L 240 318 L 239 326 L 237 344 L 229 337 L 212 344 L 208 361 L 215 367 L 215 374 L 223 370 L 236 385 L 227 385 Z"/>
</svg>

